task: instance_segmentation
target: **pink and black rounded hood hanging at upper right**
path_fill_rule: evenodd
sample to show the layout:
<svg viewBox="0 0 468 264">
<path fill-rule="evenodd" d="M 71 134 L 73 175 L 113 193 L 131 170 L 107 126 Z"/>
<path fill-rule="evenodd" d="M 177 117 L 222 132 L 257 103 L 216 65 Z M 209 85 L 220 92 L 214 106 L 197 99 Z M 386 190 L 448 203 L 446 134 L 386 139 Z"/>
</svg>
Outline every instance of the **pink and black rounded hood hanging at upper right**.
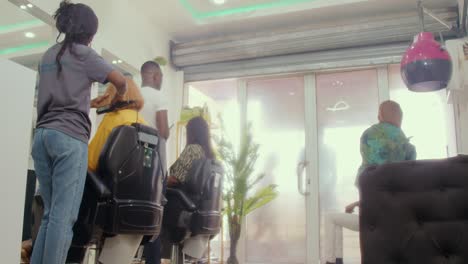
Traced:
<svg viewBox="0 0 468 264">
<path fill-rule="evenodd" d="M 408 89 L 431 92 L 447 87 L 452 77 L 449 53 L 430 32 L 415 37 L 401 61 L 401 76 Z"/>
</svg>

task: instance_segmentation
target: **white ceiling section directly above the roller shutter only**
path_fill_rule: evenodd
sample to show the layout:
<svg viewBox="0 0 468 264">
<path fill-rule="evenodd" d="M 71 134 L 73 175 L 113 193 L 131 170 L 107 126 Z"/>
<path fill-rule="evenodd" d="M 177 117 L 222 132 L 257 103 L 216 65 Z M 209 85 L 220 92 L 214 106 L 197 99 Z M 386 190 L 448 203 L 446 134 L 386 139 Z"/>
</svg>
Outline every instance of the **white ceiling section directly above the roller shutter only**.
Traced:
<svg viewBox="0 0 468 264">
<path fill-rule="evenodd" d="M 209 0 L 187 0 L 197 10 L 213 11 L 225 7 L 215 6 Z M 266 0 L 226 0 L 255 4 Z M 457 0 L 425 0 L 428 8 L 455 7 Z M 342 23 L 368 16 L 414 11 L 417 15 L 417 0 L 316 0 L 306 4 L 271 8 L 267 11 L 227 15 L 220 18 L 195 20 L 179 0 L 139 0 L 140 12 L 162 27 L 174 40 L 187 42 L 208 37 L 223 37 L 232 34 L 255 33 L 277 28 L 298 27 L 323 23 Z M 233 3 L 232 3 L 233 4 Z"/>
</svg>

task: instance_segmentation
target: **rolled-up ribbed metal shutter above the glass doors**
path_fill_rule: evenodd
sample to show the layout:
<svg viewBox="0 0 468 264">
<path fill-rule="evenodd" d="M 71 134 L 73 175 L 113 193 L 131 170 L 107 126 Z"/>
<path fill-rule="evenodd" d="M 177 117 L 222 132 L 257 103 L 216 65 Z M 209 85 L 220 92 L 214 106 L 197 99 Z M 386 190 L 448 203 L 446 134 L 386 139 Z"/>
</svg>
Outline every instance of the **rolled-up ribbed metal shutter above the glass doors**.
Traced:
<svg viewBox="0 0 468 264">
<path fill-rule="evenodd" d="M 456 9 L 435 13 L 452 23 L 458 18 Z M 185 72 L 186 81 L 394 63 L 420 29 L 413 12 L 352 25 L 174 44 L 171 55 L 172 63 Z M 430 18 L 426 30 L 453 35 Z"/>
</svg>

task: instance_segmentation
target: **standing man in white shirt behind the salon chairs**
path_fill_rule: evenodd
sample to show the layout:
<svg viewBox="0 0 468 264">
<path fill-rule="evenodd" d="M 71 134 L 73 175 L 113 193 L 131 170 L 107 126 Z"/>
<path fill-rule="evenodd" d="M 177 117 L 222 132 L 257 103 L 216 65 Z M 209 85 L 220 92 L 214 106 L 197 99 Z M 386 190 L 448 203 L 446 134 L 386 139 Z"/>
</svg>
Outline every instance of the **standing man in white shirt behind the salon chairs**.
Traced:
<svg viewBox="0 0 468 264">
<path fill-rule="evenodd" d="M 160 153 L 164 172 L 166 164 L 166 140 L 169 138 L 169 125 L 167 121 L 168 100 L 161 92 L 163 74 L 161 68 L 154 61 L 147 61 L 141 66 L 141 94 L 145 104 L 140 113 L 150 126 L 156 128 L 161 136 Z M 145 245 L 147 264 L 161 263 L 161 242 L 156 239 Z"/>
</svg>

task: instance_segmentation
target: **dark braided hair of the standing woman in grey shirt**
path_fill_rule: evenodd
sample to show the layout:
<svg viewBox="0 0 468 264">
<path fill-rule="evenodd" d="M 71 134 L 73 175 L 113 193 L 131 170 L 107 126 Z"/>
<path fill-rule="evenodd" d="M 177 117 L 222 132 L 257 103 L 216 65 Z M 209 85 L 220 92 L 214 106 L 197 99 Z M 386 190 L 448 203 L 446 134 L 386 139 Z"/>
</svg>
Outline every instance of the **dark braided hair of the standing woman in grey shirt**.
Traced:
<svg viewBox="0 0 468 264">
<path fill-rule="evenodd" d="M 73 52 L 73 44 L 89 45 L 98 28 L 98 18 L 94 11 L 84 4 L 73 4 L 68 0 L 60 3 L 59 9 L 54 14 L 56 21 L 55 25 L 59 31 L 57 42 L 62 34 L 65 34 L 65 39 L 61 42 L 62 47 L 55 59 L 58 72 L 62 72 L 61 58 L 65 51 Z"/>
</svg>

